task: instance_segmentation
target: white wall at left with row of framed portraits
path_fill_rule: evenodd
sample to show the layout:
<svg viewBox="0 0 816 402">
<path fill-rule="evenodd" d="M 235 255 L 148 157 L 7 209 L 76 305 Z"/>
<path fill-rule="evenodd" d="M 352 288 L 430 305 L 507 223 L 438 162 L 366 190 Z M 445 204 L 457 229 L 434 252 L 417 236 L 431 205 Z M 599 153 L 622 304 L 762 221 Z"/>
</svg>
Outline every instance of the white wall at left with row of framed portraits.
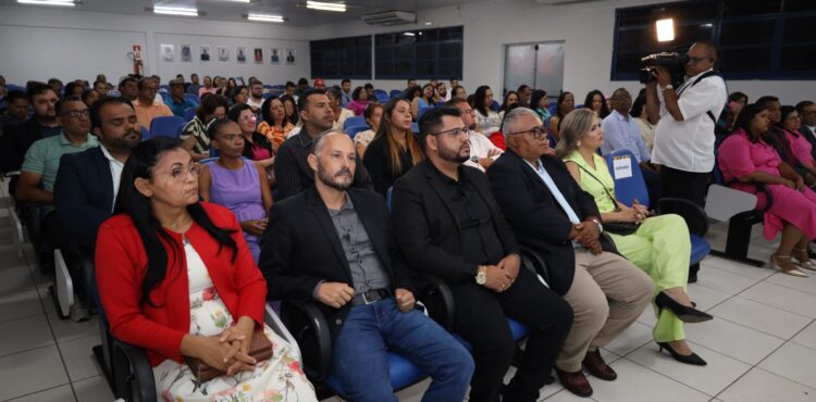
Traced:
<svg viewBox="0 0 816 402">
<path fill-rule="evenodd" d="M 92 81 L 103 73 L 110 81 L 133 72 L 126 53 L 141 45 L 145 74 L 162 80 L 182 73 L 257 76 L 264 83 L 283 84 L 309 76 L 308 29 L 255 23 L 226 23 L 183 17 L 119 15 L 73 10 L 0 7 L 0 74 L 9 84 L 57 77 Z M 160 60 L 159 45 L 175 46 L 175 62 Z M 181 45 L 193 45 L 194 62 L 181 62 Z M 198 46 L 210 45 L 211 61 L 198 61 Z M 218 61 L 219 46 L 230 47 L 230 62 Z M 236 62 L 236 47 L 248 50 L 247 63 Z M 263 48 L 263 64 L 255 64 L 252 48 Z M 296 49 L 296 64 L 269 62 L 270 48 Z M 282 53 L 283 54 L 283 53 Z"/>
</svg>

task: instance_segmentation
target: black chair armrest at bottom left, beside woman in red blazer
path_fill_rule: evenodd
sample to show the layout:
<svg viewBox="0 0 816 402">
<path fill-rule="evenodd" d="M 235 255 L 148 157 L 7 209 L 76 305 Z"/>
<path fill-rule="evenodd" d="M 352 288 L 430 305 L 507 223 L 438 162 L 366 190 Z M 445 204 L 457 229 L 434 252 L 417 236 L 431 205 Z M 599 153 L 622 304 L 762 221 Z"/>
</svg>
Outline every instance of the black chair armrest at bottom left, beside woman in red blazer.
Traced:
<svg viewBox="0 0 816 402">
<path fill-rule="evenodd" d="M 156 381 L 153 379 L 153 367 L 150 365 L 150 360 L 147 357 L 147 352 L 144 349 L 134 347 L 132 344 L 122 342 L 120 340 L 113 340 L 113 353 L 116 356 L 125 359 L 121 368 L 126 368 L 125 373 L 116 373 L 120 367 L 114 366 L 114 375 L 124 375 L 122 387 L 118 387 L 119 394 L 116 397 L 124 397 L 127 401 L 140 401 L 140 402 L 156 402 Z M 118 385 L 120 386 L 120 385 Z"/>
</svg>

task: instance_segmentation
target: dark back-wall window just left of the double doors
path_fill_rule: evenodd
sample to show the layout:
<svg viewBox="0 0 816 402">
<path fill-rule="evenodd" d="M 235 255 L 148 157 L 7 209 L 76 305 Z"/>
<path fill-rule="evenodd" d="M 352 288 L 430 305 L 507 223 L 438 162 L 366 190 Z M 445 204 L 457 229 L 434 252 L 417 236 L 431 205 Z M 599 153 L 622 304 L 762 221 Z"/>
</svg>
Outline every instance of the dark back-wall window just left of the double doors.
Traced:
<svg viewBox="0 0 816 402">
<path fill-rule="evenodd" d="M 374 43 L 376 79 L 461 77 L 460 26 L 381 34 Z"/>
</svg>

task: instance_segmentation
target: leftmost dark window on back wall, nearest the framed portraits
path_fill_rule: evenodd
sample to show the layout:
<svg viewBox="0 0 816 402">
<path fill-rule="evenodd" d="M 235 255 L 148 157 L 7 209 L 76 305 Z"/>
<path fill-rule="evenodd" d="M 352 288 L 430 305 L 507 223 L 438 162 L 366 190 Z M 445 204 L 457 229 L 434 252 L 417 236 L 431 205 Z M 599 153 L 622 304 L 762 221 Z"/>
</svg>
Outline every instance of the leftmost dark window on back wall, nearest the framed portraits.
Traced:
<svg viewBox="0 0 816 402">
<path fill-rule="evenodd" d="M 371 36 L 312 40 L 309 49 L 313 77 L 371 78 Z"/>
</svg>

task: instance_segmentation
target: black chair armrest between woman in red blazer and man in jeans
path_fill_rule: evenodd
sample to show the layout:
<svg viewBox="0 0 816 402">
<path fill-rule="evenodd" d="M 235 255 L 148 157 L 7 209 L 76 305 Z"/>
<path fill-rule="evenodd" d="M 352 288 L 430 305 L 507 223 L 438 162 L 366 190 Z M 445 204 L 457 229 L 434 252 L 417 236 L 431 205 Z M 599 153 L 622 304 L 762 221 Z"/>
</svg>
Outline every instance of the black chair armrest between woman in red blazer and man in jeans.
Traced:
<svg viewBox="0 0 816 402">
<path fill-rule="evenodd" d="M 313 302 L 284 301 L 281 321 L 304 353 L 304 373 L 312 381 L 322 382 L 332 370 L 332 337 L 323 312 Z"/>
</svg>

